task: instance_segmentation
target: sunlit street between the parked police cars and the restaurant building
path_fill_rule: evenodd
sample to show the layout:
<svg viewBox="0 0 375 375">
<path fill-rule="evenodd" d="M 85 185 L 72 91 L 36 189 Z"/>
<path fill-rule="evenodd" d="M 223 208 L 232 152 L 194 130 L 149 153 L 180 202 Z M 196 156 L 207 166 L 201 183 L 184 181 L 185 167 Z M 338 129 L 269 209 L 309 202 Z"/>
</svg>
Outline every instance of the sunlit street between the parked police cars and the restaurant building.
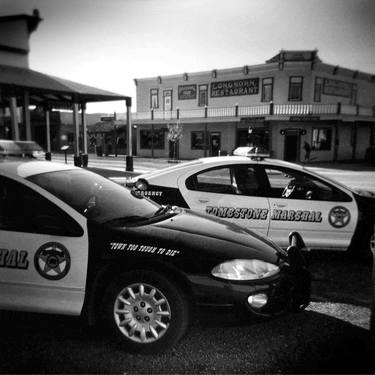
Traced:
<svg viewBox="0 0 375 375">
<path fill-rule="evenodd" d="M 53 161 L 65 162 L 63 155 L 53 155 Z M 73 155 L 68 155 L 68 164 L 73 164 Z M 172 164 L 166 159 L 134 158 L 134 173 L 126 172 L 125 156 L 118 157 L 89 155 L 89 167 L 102 172 L 106 177 L 125 178 L 134 174 L 146 173 L 156 169 L 166 168 Z M 354 189 L 365 189 L 375 192 L 375 165 L 321 163 L 308 166 L 311 170 L 333 178 Z M 103 171 L 104 170 L 104 171 Z"/>
</svg>

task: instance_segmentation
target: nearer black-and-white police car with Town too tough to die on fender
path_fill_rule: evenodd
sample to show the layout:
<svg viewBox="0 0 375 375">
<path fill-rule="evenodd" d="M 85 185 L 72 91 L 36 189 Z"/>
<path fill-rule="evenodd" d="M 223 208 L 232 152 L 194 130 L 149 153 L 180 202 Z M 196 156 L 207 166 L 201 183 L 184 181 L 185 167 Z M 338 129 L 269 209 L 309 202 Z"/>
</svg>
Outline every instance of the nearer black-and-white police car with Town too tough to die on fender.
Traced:
<svg viewBox="0 0 375 375">
<path fill-rule="evenodd" d="M 305 308 L 304 244 L 289 241 L 284 251 L 81 168 L 0 160 L 0 309 L 82 315 L 129 351 L 174 345 L 196 305 Z"/>
</svg>

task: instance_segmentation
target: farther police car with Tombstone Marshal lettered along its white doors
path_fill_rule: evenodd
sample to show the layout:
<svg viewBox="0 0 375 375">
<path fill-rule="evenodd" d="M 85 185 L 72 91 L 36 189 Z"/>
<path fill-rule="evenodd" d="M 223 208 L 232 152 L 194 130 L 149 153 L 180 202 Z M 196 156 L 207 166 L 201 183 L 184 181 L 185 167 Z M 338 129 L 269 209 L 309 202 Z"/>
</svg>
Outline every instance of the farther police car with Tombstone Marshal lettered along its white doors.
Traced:
<svg viewBox="0 0 375 375">
<path fill-rule="evenodd" d="M 128 186 L 160 204 L 225 219 L 288 246 L 298 231 L 310 249 L 374 249 L 375 198 L 254 148 L 140 175 Z M 240 156 L 239 156 L 240 155 Z M 244 156 L 245 155 L 245 156 Z"/>
</svg>

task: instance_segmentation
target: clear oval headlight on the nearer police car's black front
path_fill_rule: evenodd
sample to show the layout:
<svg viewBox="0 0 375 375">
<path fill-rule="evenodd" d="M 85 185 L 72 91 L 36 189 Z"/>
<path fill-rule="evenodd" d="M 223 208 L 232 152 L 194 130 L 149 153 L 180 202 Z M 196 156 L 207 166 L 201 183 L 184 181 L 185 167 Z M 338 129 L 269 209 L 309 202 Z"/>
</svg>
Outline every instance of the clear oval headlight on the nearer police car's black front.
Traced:
<svg viewBox="0 0 375 375">
<path fill-rule="evenodd" d="M 258 259 L 233 259 L 217 265 L 211 273 L 226 280 L 259 280 L 275 275 L 279 270 L 278 266 Z"/>
</svg>

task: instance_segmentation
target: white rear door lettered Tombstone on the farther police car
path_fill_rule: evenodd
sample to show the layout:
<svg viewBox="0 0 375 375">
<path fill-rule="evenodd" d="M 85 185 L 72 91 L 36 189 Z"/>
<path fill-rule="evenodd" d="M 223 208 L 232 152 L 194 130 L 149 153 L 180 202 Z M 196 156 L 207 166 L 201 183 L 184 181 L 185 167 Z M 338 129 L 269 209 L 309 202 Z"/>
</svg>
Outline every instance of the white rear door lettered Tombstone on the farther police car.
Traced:
<svg viewBox="0 0 375 375">
<path fill-rule="evenodd" d="M 269 202 L 252 165 L 206 169 L 180 177 L 178 185 L 191 209 L 267 234 Z"/>
</svg>

